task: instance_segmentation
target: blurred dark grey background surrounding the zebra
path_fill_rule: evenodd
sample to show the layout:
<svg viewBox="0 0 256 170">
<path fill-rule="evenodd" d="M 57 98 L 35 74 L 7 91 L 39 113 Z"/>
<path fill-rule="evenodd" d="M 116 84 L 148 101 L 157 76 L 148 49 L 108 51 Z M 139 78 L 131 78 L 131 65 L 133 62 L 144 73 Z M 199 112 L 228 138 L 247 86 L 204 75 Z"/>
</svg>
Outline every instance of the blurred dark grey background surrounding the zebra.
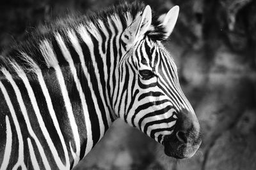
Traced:
<svg viewBox="0 0 256 170">
<path fill-rule="evenodd" d="M 0 53 L 26 32 L 77 11 L 118 0 L 1 0 Z M 180 6 L 165 43 L 195 109 L 203 143 L 191 159 L 166 157 L 163 146 L 116 120 L 76 169 L 256 169 L 256 1 L 145 0 L 156 13 Z"/>
</svg>

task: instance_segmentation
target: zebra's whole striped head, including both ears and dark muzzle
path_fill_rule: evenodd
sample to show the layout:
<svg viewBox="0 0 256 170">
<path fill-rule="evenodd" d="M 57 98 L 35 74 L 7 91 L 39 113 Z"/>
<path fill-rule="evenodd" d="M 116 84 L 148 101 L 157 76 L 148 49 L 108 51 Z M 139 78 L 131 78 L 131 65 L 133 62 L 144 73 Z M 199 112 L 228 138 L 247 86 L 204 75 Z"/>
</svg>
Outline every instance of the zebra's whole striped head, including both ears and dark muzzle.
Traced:
<svg viewBox="0 0 256 170">
<path fill-rule="evenodd" d="M 152 11 L 146 6 L 122 33 L 123 54 L 116 69 L 119 84 L 114 110 L 125 122 L 162 143 L 166 155 L 182 159 L 192 157 L 198 150 L 202 141 L 200 126 L 180 89 L 172 57 L 161 40 L 152 39 L 154 29 L 163 31 L 155 36 L 168 38 L 178 13 L 179 7 L 173 7 L 157 19 L 156 28 Z"/>
</svg>

